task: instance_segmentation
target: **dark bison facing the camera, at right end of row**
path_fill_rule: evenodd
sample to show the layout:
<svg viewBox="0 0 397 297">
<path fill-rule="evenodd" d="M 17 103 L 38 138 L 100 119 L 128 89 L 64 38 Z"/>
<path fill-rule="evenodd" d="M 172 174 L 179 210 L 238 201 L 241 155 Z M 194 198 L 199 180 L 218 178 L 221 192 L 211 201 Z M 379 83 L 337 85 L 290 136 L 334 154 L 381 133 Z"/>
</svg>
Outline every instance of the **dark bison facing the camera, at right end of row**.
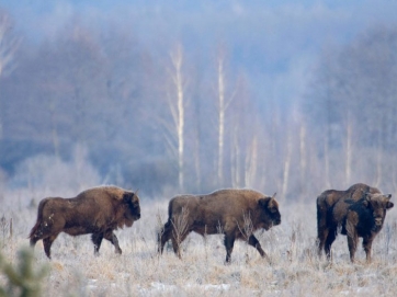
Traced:
<svg viewBox="0 0 397 297">
<path fill-rule="evenodd" d="M 322 192 L 317 197 L 318 254 L 321 255 L 324 249 L 330 259 L 331 245 L 341 230 L 348 236 L 350 260 L 354 262 L 359 237 L 362 237 L 366 260 L 371 262 L 372 242 L 382 229 L 386 210 L 394 206 L 390 197 L 362 183 L 347 191 Z"/>
</svg>

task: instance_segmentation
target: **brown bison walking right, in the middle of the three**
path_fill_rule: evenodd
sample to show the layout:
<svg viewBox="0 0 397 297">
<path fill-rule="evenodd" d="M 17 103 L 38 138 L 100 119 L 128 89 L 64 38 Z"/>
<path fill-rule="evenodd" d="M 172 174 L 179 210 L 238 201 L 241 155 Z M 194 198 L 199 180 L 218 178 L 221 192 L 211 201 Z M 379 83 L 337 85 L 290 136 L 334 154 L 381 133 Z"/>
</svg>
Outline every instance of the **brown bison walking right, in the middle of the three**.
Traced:
<svg viewBox="0 0 397 297">
<path fill-rule="evenodd" d="M 191 231 L 198 235 L 225 235 L 226 262 L 236 239 L 247 240 L 261 256 L 266 254 L 253 231 L 269 230 L 281 224 L 279 204 L 273 197 L 252 190 L 220 190 L 207 195 L 181 195 L 169 203 L 169 218 L 159 235 L 159 252 L 171 239 L 173 251 L 181 258 L 180 243 Z"/>
</svg>

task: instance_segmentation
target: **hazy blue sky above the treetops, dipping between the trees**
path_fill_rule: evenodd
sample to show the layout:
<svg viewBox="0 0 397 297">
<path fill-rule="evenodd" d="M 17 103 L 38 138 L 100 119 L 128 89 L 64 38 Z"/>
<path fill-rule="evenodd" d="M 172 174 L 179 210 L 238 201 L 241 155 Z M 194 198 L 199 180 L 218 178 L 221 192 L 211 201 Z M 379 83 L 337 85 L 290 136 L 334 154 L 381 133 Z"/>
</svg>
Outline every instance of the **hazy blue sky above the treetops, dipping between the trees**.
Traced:
<svg viewBox="0 0 397 297">
<path fill-rule="evenodd" d="M 0 8 L 35 43 L 58 35 L 72 18 L 92 27 L 131 28 L 151 50 L 182 41 L 188 55 L 211 55 L 214 45 L 226 43 L 232 67 L 247 69 L 259 94 L 263 88 L 286 101 L 302 96 L 324 48 L 347 44 L 371 26 L 397 25 L 397 0 L 0 0 Z"/>
</svg>

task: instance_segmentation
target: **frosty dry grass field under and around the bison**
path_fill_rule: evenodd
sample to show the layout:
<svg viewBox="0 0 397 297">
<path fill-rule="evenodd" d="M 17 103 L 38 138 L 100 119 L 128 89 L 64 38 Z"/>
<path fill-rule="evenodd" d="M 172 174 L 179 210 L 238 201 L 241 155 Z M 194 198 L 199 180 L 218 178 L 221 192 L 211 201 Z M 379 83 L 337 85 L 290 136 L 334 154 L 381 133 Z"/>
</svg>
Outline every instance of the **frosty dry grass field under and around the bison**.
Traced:
<svg viewBox="0 0 397 297">
<path fill-rule="evenodd" d="M 351 264 L 347 238 L 339 236 L 332 263 L 316 255 L 316 209 L 310 205 L 281 205 L 281 226 L 258 231 L 269 260 L 256 249 L 237 241 L 231 264 L 225 265 L 222 236 L 205 240 L 190 235 L 181 245 L 179 260 L 171 244 L 157 253 L 159 218 L 167 218 L 167 201 L 141 201 L 143 217 L 132 228 L 118 230 L 123 254 L 114 253 L 107 241 L 100 256 L 93 255 L 89 236 L 66 235 L 53 244 L 48 261 L 37 242 L 36 262 L 50 263 L 45 296 L 394 296 L 397 292 L 397 215 L 392 209 L 384 229 L 374 241 L 373 263 L 365 263 L 362 247 L 358 263 Z M 2 214 L 0 214 L 2 216 Z M 29 243 L 36 208 L 4 209 L 4 226 L 12 218 L 13 233 L 1 231 L 7 260 L 16 262 L 16 251 Z M 242 228 L 242 227 L 241 227 Z M 248 232 L 249 230 L 247 230 Z M 249 259 L 249 261 L 247 261 Z M 0 282 L 3 282 L 0 276 Z"/>
</svg>

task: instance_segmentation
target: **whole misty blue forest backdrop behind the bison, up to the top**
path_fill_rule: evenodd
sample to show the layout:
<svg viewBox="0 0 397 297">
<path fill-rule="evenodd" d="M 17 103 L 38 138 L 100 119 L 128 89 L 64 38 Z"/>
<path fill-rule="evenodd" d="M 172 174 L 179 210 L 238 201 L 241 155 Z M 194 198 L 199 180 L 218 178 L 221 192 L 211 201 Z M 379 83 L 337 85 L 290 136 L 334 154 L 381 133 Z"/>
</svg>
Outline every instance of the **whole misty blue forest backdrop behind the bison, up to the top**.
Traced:
<svg viewBox="0 0 397 297">
<path fill-rule="evenodd" d="M 397 1 L 0 1 L 0 203 L 397 190 Z"/>
</svg>

